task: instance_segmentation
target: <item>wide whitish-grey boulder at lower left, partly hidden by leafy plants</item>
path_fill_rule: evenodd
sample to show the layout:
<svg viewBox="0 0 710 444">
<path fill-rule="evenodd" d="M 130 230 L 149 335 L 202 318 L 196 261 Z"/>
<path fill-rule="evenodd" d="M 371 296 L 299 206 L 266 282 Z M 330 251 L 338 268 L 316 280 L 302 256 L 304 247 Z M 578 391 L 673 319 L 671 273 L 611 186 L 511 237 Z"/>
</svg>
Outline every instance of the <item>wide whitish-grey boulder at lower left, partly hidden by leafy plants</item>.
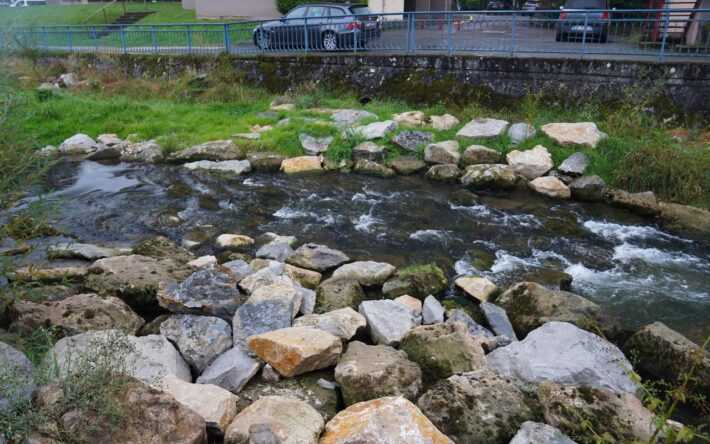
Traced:
<svg viewBox="0 0 710 444">
<path fill-rule="evenodd" d="M 190 367 L 173 345 L 161 335 L 127 336 L 116 330 L 97 330 L 62 338 L 47 353 L 46 362 L 60 374 L 72 373 L 77 365 L 92 362 L 96 354 L 113 353 L 101 359 L 120 362 L 131 376 L 151 383 L 171 374 L 192 381 Z"/>
</svg>

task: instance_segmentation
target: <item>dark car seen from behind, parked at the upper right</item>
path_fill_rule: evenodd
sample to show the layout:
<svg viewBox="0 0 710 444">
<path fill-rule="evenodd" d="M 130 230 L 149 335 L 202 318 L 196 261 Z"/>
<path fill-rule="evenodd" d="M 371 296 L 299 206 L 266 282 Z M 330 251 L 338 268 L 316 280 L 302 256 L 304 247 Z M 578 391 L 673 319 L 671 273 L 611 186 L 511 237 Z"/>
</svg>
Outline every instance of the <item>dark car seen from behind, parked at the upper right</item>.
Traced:
<svg viewBox="0 0 710 444">
<path fill-rule="evenodd" d="M 567 0 L 560 9 L 562 12 L 555 25 L 555 40 L 569 41 L 586 35 L 593 42 L 607 42 L 611 14 L 602 10 L 609 9 L 609 0 Z"/>
</svg>

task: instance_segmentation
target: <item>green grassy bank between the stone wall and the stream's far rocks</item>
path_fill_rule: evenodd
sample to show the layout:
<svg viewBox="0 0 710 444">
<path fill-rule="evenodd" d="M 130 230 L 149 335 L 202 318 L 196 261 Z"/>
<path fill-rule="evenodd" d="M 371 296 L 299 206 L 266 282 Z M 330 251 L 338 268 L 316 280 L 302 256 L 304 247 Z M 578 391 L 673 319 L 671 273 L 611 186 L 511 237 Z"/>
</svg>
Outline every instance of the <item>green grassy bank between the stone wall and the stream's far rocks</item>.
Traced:
<svg viewBox="0 0 710 444">
<path fill-rule="evenodd" d="M 313 85 L 302 85 L 289 94 L 297 108 L 280 111 L 275 117 L 257 117 L 268 110 L 276 99 L 265 90 L 245 85 L 233 70 L 215 70 L 202 78 L 175 80 L 137 80 L 117 77 L 115 73 L 82 72 L 86 84 L 76 90 L 39 93 L 35 86 L 51 74 L 46 67 L 32 69 L 28 64 L 15 64 L 16 78 L 25 85 L 17 86 L 26 117 L 13 121 L 23 137 L 31 137 L 36 148 L 58 145 L 81 132 L 96 137 L 116 133 L 121 137 L 136 134 L 141 139 L 157 139 L 166 150 L 173 151 L 197 143 L 230 138 L 235 133 L 249 132 L 254 125 L 274 125 L 257 141 L 237 140 L 249 150 L 272 150 L 294 156 L 303 153 L 299 134 L 334 136 L 329 155 L 349 158 L 357 140 L 342 139 L 332 126 L 314 122 L 327 118 L 314 108 L 361 108 L 373 112 L 378 119 L 389 119 L 393 113 L 418 109 L 426 115 L 450 113 L 464 125 L 475 117 L 495 117 L 511 122 L 530 122 L 539 128 L 549 122 L 593 121 L 609 137 L 597 149 L 588 149 L 589 174 L 597 174 L 611 186 L 631 191 L 652 190 L 666 200 L 710 207 L 710 128 L 694 121 L 658 121 L 647 114 L 645 102 L 633 91 L 628 100 L 613 109 L 601 102 L 569 107 L 568 104 L 530 95 L 504 109 L 490 110 L 479 104 L 418 107 L 395 100 L 373 100 L 360 105 L 357 97 L 345 91 L 326 91 Z M 290 117 L 288 125 L 276 122 Z M 372 119 L 376 120 L 376 119 Z M 367 123 L 367 121 L 365 121 Z M 458 139 L 460 126 L 436 132 L 435 140 L 459 140 L 462 149 L 481 144 L 505 154 L 512 149 L 524 150 L 544 145 L 559 165 L 578 151 L 557 145 L 544 134 L 512 147 L 506 137 L 497 140 L 470 141 Z M 406 129 L 406 128 L 401 128 Z M 400 130 L 401 130 L 400 129 Z M 682 137 L 678 134 L 682 133 Z M 388 158 L 402 153 L 390 142 Z M 421 154 L 421 153 L 420 153 Z"/>
</svg>

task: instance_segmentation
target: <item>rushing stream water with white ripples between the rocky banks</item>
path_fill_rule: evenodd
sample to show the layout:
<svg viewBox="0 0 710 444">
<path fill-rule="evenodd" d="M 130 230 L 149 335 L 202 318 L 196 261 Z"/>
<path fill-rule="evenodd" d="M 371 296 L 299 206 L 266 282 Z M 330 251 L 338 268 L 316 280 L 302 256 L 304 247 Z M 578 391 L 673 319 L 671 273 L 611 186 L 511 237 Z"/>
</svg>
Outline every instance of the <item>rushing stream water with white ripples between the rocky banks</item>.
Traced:
<svg viewBox="0 0 710 444">
<path fill-rule="evenodd" d="M 59 201 L 57 225 L 84 242 L 127 245 L 156 233 L 179 242 L 191 227 L 212 224 L 225 233 L 294 235 L 354 259 L 433 261 L 449 277 L 482 275 L 499 286 L 565 272 L 573 292 L 629 328 L 660 320 L 696 341 L 710 334 L 710 240 L 665 233 L 606 205 L 524 191 L 456 205 L 453 186 L 416 177 L 225 179 L 95 162 L 59 165 L 48 189 Z M 182 222 L 168 226 L 167 215 Z"/>
</svg>

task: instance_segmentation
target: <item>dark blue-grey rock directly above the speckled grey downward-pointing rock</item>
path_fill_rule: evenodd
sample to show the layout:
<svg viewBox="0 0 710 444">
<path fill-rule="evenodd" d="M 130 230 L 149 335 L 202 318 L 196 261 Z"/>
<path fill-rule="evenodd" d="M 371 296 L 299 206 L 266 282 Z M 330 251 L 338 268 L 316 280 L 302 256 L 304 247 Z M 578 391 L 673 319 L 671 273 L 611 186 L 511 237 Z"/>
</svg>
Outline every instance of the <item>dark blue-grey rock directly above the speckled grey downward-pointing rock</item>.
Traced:
<svg viewBox="0 0 710 444">
<path fill-rule="evenodd" d="M 232 317 L 241 303 L 237 277 L 225 266 L 204 268 L 180 284 L 161 284 L 158 302 L 173 313 Z"/>
</svg>

